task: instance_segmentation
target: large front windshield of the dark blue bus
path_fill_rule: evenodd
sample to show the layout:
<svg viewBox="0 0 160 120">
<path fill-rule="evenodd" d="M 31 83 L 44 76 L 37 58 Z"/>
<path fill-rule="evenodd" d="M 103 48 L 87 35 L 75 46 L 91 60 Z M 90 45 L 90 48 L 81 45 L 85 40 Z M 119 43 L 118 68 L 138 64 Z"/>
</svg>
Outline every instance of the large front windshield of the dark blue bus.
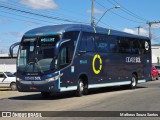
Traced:
<svg viewBox="0 0 160 120">
<path fill-rule="evenodd" d="M 56 69 L 55 45 L 60 36 L 23 38 L 17 70 L 25 73 L 44 73 Z"/>
</svg>

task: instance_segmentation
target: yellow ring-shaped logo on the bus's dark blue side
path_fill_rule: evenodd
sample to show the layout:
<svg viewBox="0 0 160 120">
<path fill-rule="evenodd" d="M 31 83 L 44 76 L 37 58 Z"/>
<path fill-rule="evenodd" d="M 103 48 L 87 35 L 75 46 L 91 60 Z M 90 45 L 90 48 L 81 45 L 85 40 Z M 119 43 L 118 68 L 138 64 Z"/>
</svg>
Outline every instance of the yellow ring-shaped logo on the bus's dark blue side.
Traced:
<svg viewBox="0 0 160 120">
<path fill-rule="evenodd" d="M 95 68 L 96 59 L 99 59 L 99 68 L 98 69 Z M 101 72 L 101 70 L 102 70 L 102 59 L 101 59 L 101 56 L 99 54 L 94 55 L 93 61 L 92 61 L 92 68 L 93 68 L 93 72 L 95 74 L 99 74 Z"/>
</svg>

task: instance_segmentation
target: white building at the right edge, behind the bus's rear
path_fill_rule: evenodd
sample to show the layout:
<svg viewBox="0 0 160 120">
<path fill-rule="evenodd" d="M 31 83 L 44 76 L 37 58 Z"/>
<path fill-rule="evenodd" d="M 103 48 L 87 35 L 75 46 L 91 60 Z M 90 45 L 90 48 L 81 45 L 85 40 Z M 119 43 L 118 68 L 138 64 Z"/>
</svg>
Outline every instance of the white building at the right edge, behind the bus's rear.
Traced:
<svg viewBox="0 0 160 120">
<path fill-rule="evenodd" d="M 152 63 L 160 65 L 160 44 L 152 45 Z"/>
</svg>

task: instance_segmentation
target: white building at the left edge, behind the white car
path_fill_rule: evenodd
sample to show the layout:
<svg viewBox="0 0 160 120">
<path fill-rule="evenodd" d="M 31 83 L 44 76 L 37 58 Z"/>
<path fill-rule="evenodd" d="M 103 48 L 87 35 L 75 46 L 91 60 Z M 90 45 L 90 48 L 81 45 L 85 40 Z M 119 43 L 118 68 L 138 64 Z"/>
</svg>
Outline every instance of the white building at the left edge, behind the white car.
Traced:
<svg viewBox="0 0 160 120">
<path fill-rule="evenodd" d="M 0 54 L 0 72 L 16 72 L 16 57 L 9 57 L 8 54 Z"/>
</svg>

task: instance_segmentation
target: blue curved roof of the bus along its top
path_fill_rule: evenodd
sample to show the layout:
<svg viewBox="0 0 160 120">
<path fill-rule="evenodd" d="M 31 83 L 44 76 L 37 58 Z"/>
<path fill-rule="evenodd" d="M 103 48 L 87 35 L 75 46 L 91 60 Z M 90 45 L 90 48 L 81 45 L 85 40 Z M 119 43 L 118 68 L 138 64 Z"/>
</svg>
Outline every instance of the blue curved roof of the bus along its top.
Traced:
<svg viewBox="0 0 160 120">
<path fill-rule="evenodd" d="M 85 31 L 91 33 L 101 33 L 101 34 L 109 34 L 109 35 L 116 35 L 116 36 L 125 36 L 125 37 L 134 37 L 140 39 L 149 39 L 148 37 L 133 35 L 121 31 L 116 31 L 112 29 L 106 29 L 102 27 L 91 27 L 89 25 L 82 25 L 82 24 L 62 24 L 62 25 L 51 25 L 51 26 L 43 26 L 39 28 L 35 28 L 29 30 L 24 34 L 24 36 L 43 36 L 43 35 L 53 35 L 53 34 L 62 34 L 68 31 Z"/>
</svg>

